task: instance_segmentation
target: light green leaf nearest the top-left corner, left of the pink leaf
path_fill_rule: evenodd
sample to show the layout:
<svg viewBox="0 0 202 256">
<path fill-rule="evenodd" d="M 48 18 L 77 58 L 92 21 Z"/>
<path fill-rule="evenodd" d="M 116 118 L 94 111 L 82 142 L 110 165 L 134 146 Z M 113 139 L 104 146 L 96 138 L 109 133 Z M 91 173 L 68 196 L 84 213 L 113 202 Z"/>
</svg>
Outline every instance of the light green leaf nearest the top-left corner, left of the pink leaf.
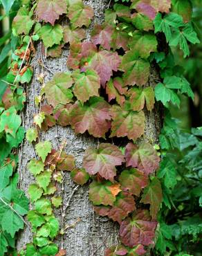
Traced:
<svg viewBox="0 0 202 256">
<path fill-rule="evenodd" d="M 30 18 L 28 10 L 21 7 L 12 21 L 12 31 L 14 35 L 28 35 L 34 23 L 35 21 Z"/>
</svg>

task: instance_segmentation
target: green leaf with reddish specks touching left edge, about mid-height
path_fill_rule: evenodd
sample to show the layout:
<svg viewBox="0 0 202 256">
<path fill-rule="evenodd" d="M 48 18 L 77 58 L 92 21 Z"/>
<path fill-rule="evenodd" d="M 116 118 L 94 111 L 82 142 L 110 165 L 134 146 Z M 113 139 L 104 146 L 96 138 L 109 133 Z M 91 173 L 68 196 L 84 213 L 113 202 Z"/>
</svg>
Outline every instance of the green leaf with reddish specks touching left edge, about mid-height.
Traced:
<svg viewBox="0 0 202 256">
<path fill-rule="evenodd" d="M 5 130 L 6 134 L 11 134 L 16 137 L 17 129 L 21 125 L 21 118 L 17 115 L 15 107 L 4 111 L 0 116 L 0 132 Z"/>
</svg>

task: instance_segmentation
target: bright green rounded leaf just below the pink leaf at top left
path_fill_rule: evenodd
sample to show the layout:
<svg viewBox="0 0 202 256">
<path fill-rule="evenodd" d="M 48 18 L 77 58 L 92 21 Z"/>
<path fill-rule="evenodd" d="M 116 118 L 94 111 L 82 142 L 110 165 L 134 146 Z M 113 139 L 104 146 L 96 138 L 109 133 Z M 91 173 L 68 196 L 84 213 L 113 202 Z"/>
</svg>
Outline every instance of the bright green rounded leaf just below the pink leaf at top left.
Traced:
<svg viewBox="0 0 202 256">
<path fill-rule="evenodd" d="M 50 24 L 42 26 L 42 41 L 46 48 L 52 47 L 53 44 L 59 44 L 62 38 L 63 30 L 62 26 L 59 24 L 56 24 L 55 26 L 51 26 Z"/>
</svg>

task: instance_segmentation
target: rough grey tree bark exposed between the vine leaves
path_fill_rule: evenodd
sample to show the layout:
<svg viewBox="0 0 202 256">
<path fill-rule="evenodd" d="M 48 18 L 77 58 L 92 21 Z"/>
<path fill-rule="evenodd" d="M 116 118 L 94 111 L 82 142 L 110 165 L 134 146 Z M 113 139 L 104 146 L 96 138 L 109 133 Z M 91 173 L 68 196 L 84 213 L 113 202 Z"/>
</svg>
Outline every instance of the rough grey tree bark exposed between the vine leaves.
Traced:
<svg viewBox="0 0 202 256">
<path fill-rule="evenodd" d="M 93 7 L 95 10 L 95 19 L 93 23 L 101 23 L 103 20 L 104 9 L 107 8 L 109 1 L 104 0 L 90 0 L 86 1 L 86 4 Z M 89 39 L 89 36 L 87 37 Z M 34 106 L 34 98 L 39 95 L 40 84 L 37 80 L 39 74 L 44 73 L 45 81 L 47 82 L 53 77 L 53 74 L 66 71 L 66 58 L 68 56 L 68 50 L 64 50 L 62 57 L 57 59 L 49 58 L 44 60 L 44 68 L 39 65 L 39 60 L 42 55 L 40 46 L 37 49 L 37 53 L 33 59 L 34 78 L 33 82 L 27 89 L 27 108 L 24 113 L 24 126 L 28 129 L 33 123 L 33 115 L 37 113 L 37 109 Z M 44 58 L 44 57 L 43 57 Z M 149 84 L 154 85 L 156 72 L 152 71 L 150 75 Z M 145 130 L 145 138 L 152 143 L 158 141 L 158 131 L 160 128 L 159 115 L 157 111 L 149 113 L 145 111 L 147 122 Z M 77 167 L 82 166 L 82 157 L 84 151 L 90 145 L 96 145 L 98 140 L 88 136 L 76 136 L 74 131 L 70 127 L 53 127 L 46 133 L 40 134 L 40 140 L 50 140 L 53 143 L 53 148 L 57 149 L 59 145 L 66 140 L 66 153 L 73 154 L 76 158 Z M 19 172 L 21 172 L 20 188 L 26 191 L 30 183 L 34 182 L 33 176 L 28 172 L 26 165 L 31 158 L 35 157 L 33 146 L 24 143 L 21 152 L 21 166 Z M 63 199 L 64 204 L 68 202 L 73 189 L 76 185 L 71 181 L 69 174 L 65 175 Z M 64 235 L 64 241 L 62 237 L 58 237 L 56 241 L 60 247 L 64 246 L 68 256 L 88 256 L 88 255 L 104 255 L 104 249 L 107 246 L 117 244 L 118 237 L 118 225 L 110 221 L 108 218 L 98 217 L 93 214 L 93 208 L 89 202 L 88 196 L 89 185 L 79 187 L 75 190 L 69 207 L 66 210 L 66 217 L 64 219 L 64 226 L 71 226 L 66 229 Z M 58 194 L 61 193 L 59 188 Z M 31 207 L 31 206 L 30 206 Z M 62 222 L 61 212 L 55 212 L 57 217 Z M 75 225 L 74 225 L 75 223 Z M 62 225 L 62 223 L 61 223 Z M 62 227 L 61 227 L 62 228 Z M 32 232 L 30 226 L 27 226 L 23 232 L 21 232 L 18 240 L 18 249 L 23 248 L 28 242 L 32 241 Z"/>
</svg>

